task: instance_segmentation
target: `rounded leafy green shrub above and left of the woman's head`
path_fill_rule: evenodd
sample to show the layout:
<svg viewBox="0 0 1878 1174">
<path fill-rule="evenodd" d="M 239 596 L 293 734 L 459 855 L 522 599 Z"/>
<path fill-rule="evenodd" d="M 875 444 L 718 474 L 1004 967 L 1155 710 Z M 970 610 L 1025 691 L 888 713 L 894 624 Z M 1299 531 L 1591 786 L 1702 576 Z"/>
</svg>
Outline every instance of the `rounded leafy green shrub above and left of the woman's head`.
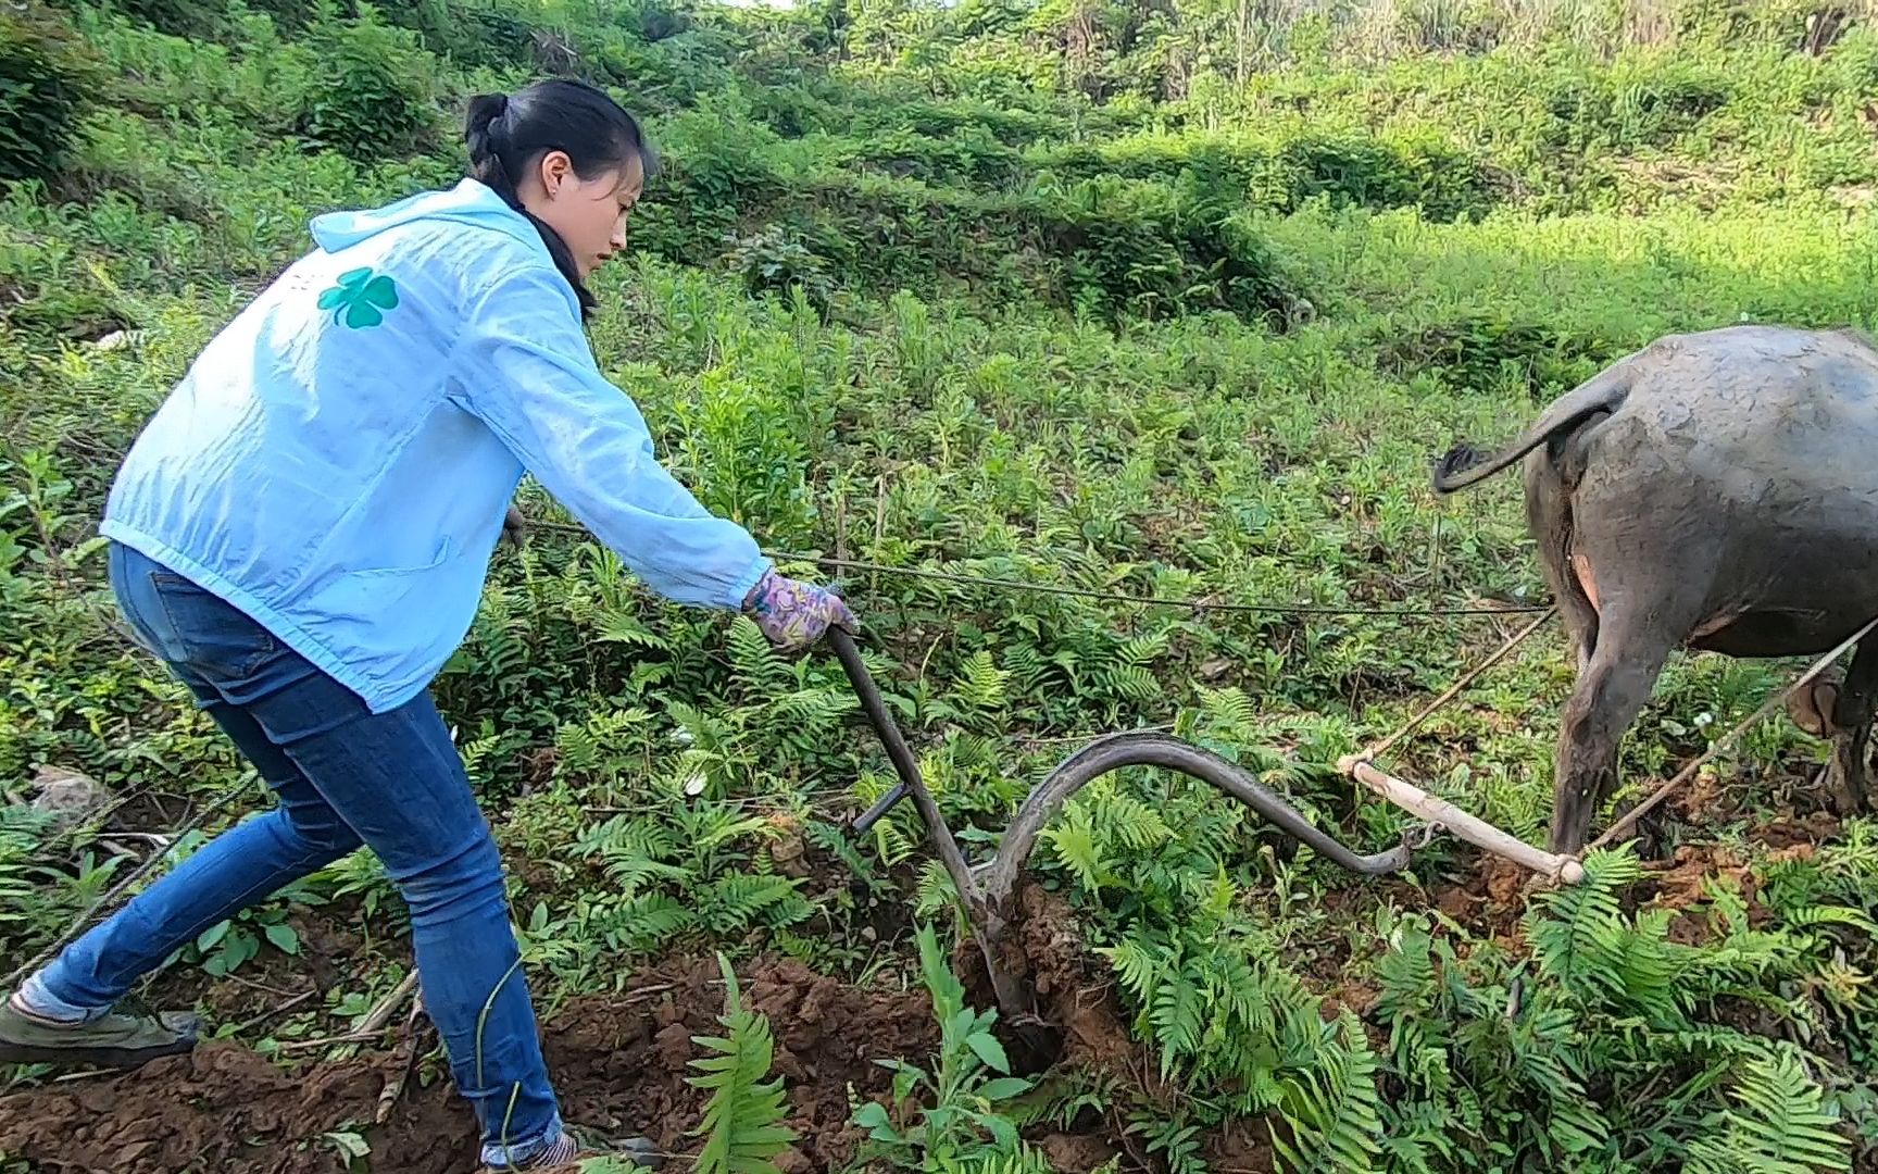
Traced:
<svg viewBox="0 0 1878 1174">
<path fill-rule="evenodd" d="M 428 145 L 436 131 L 436 58 L 415 34 L 385 24 L 361 4 L 353 21 L 323 11 L 310 45 L 319 70 L 306 79 L 295 124 L 308 143 L 359 162 L 408 156 Z"/>
</svg>

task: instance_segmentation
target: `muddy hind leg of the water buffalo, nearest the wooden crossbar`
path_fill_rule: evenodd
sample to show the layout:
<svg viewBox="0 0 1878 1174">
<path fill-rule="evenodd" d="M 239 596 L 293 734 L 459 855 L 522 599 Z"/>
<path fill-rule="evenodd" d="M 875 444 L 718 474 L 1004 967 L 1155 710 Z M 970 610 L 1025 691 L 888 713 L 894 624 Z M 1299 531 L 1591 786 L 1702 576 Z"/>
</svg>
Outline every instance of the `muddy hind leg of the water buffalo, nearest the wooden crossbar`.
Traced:
<svg viewBox="0 0 1878 1174">
<path fill-rule="evenodd" d="M 1639 631 L 1602 616 L 1596 648 L 1578 674 L 1559 723 L 1551 851 L 1576 853 L 1591 838 L 1598 804 L 1617 787 L 1617 749 L 1649 703 L 1675 642 L 1653 624 Z"/>
</svg>

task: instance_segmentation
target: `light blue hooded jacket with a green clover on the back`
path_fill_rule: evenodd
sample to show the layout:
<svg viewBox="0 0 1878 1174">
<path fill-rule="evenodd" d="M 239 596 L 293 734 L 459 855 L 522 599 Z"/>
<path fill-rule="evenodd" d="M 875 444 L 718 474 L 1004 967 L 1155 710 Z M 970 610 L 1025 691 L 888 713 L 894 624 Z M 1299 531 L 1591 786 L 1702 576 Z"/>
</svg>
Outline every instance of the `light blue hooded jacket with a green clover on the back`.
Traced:
<svg viewBox="0 0 1878 1174">
<path fill-rule="evenodd" d="M 145 426 L 105 537 L 374 712 L 421 693 L 470 631 L 524 470 L 654 592 L 742 605 L 768 560 L 659 466 L 528 220 L 464 180 L 312 233 Z"/>
</svg>

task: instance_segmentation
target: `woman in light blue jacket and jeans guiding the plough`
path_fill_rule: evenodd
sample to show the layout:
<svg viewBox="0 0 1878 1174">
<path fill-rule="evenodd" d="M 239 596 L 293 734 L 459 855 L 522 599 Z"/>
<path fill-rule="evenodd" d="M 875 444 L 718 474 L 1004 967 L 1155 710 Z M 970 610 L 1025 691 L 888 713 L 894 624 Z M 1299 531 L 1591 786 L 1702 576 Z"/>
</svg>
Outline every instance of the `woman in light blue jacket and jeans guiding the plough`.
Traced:
<svg viewBox="0 0 1878 1174">
<path fill-rule="evenodd" d="M 111 584 L 278 795 L 13 992 L 0 1061 L 135 1065 L 186 1014 L 113 1005 L 171 950 L 368 845 L 411 909 L 424 1007 L 492 1168 L 565 1129 L 496 842 L 428 684 L 475 616 L 524 471 L 661 595 L 742 609 L 783 648 L 854 627 L 654 458 L 582 334 L 652 156 L 603 92 L 477 98 L 473 178 L 312 224 L 317 248 L 203 351 L 105 509 Z"/>
</svg>

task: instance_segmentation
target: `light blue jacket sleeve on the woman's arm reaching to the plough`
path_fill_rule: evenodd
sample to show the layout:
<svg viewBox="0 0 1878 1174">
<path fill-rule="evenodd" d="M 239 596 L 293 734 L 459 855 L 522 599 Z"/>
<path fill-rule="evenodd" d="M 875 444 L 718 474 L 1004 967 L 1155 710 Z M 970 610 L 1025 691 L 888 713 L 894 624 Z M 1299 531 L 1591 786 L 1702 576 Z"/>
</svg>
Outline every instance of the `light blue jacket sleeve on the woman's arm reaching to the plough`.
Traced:
<svg viewBox="0 0 1878 1174">
<path fill-rule="evenodd" d="M 749 532 L 699 505 L 654 456 L 554 269 L 513 267 L 470 293 L 453 374 L 456 404 L 654 592 L 736 610 L 768 569 Z"/>
</svg>

